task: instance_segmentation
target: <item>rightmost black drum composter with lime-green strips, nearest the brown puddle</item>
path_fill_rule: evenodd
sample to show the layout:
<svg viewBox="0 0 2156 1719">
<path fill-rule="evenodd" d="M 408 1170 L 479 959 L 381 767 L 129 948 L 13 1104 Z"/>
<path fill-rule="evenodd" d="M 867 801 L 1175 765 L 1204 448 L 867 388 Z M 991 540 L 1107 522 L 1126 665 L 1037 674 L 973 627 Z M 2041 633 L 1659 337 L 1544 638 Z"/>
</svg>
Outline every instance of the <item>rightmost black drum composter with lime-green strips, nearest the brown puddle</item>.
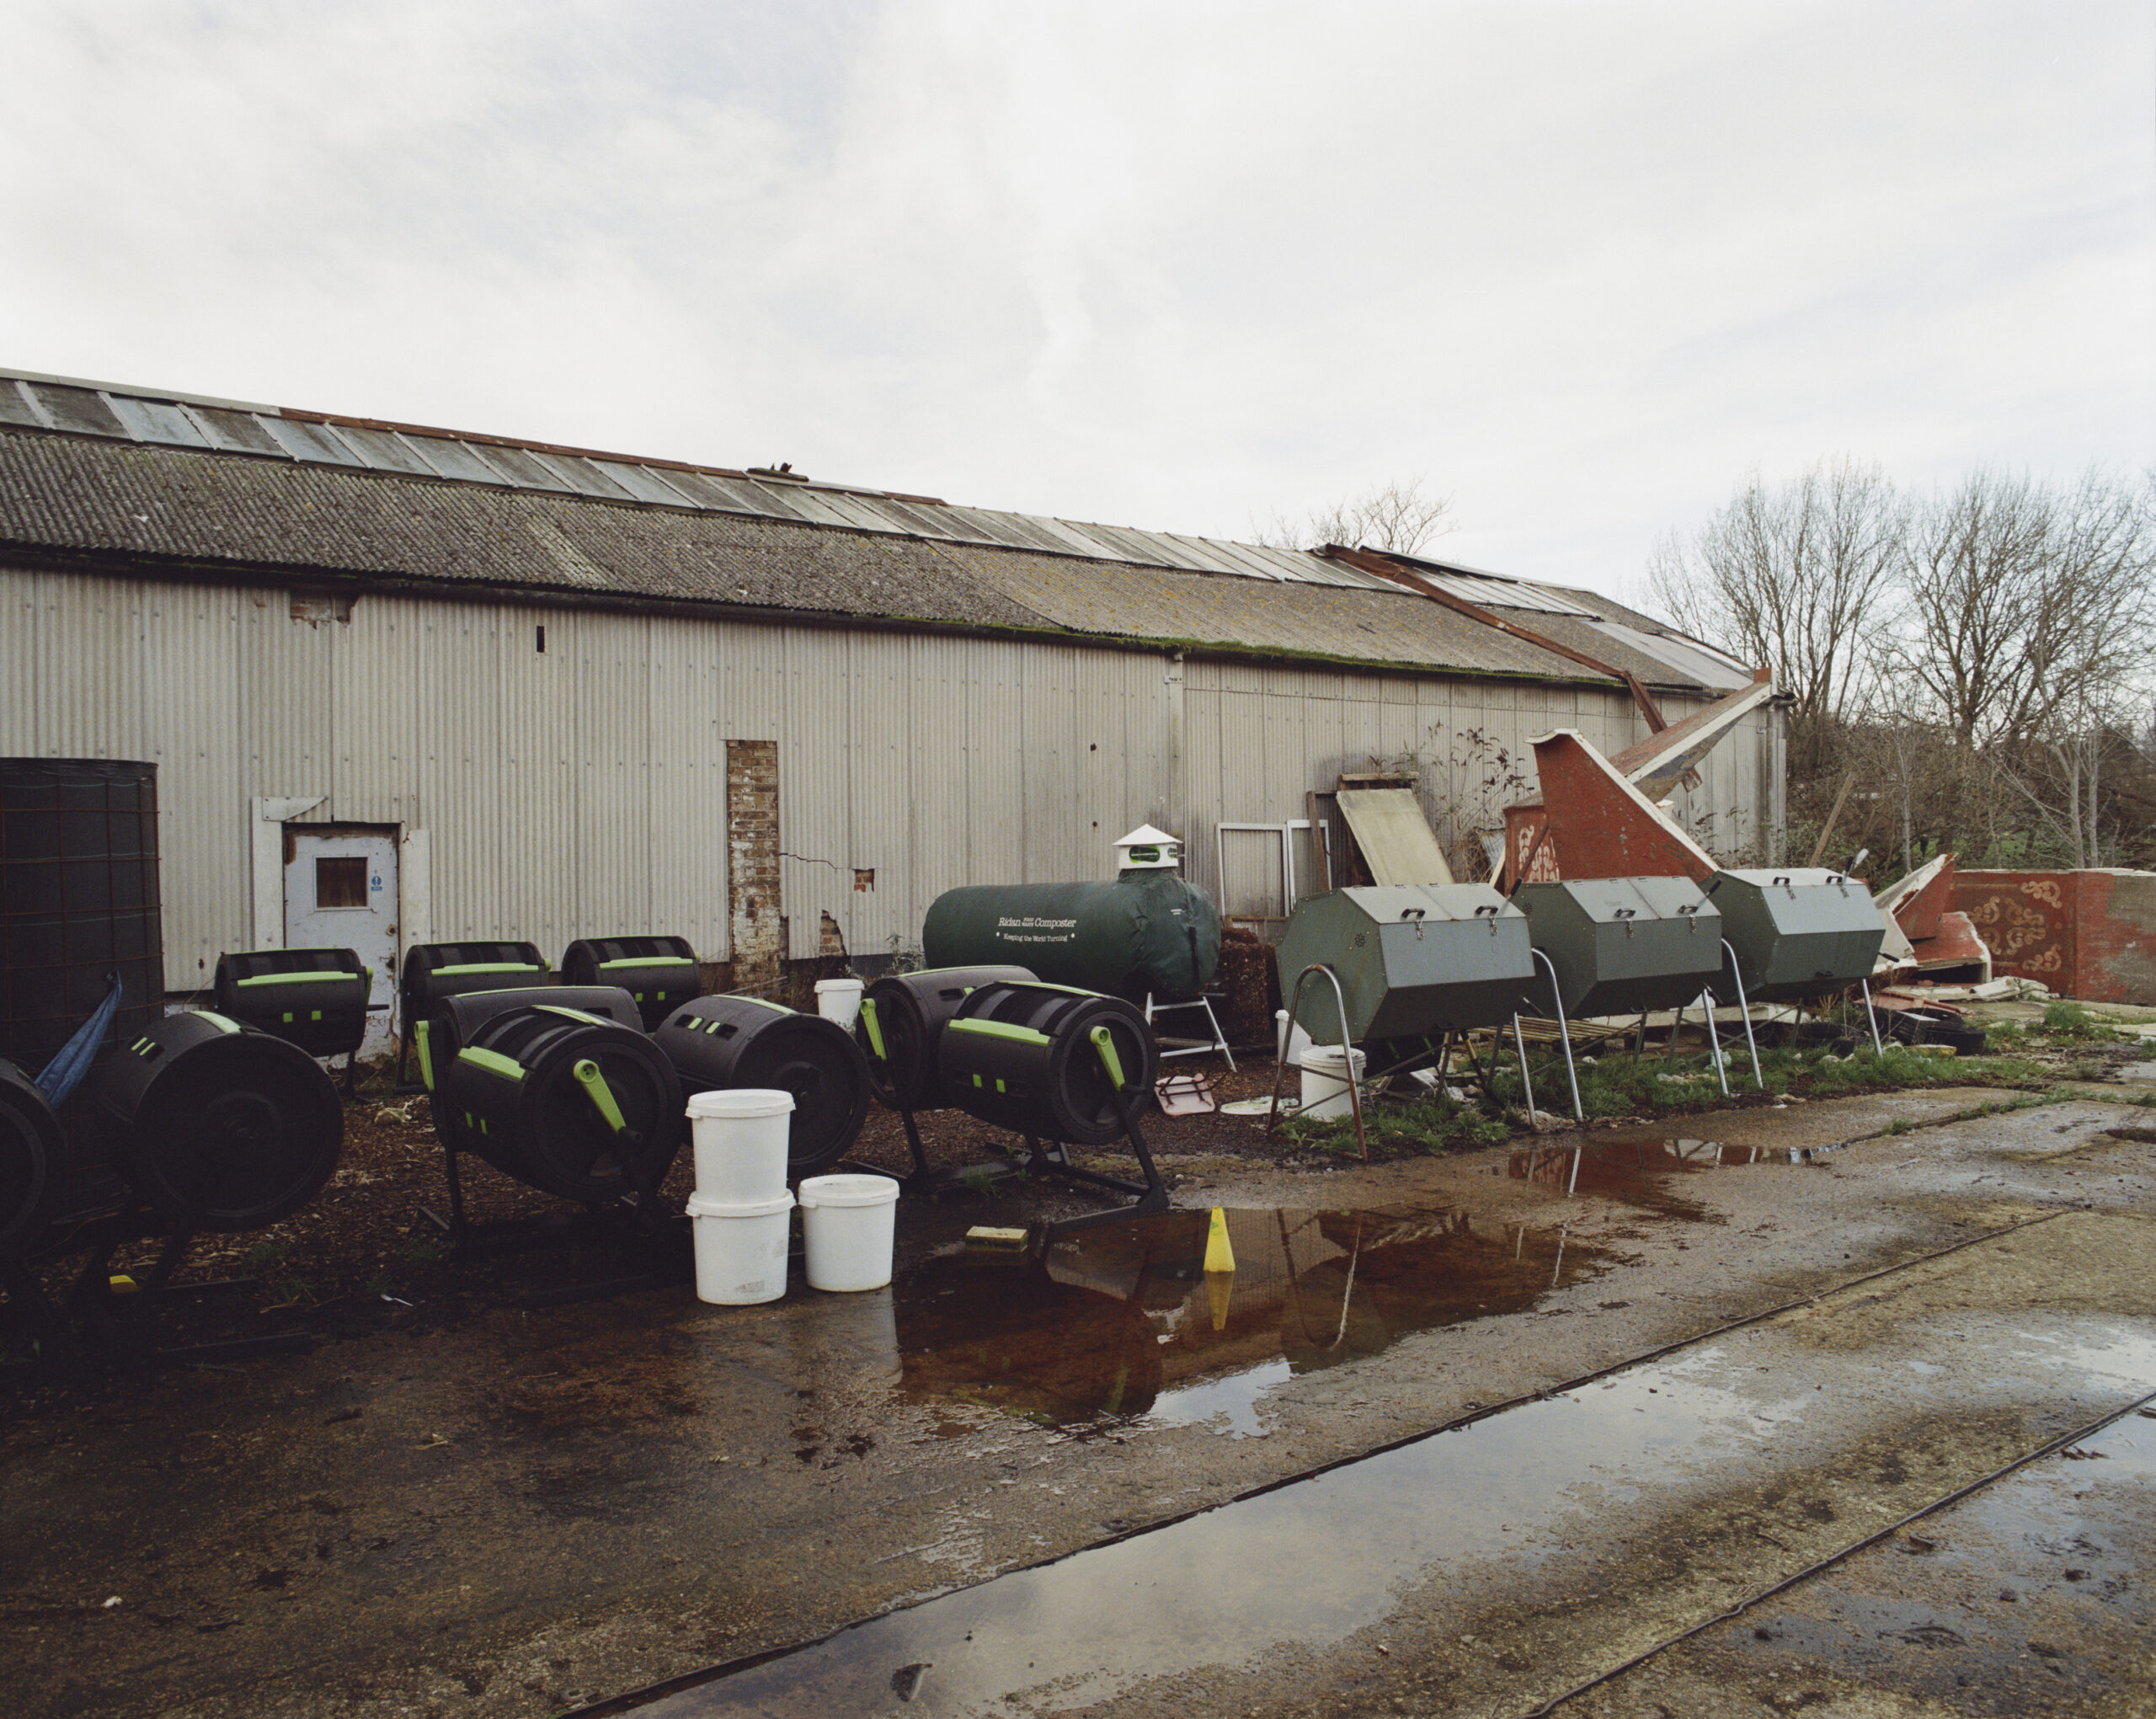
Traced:
<svg viewBox="0 0 2156 1719">
<path fill-rule="evenodd" d="M 1000 984 L 966 996 L 936 1046 L 949 1102 L 1069 1145 L 1106 1145 L 1123 1106 L 1153 1089 L 1153 1029 L 1121 996 L 1072 986 Z"/>
</svg>

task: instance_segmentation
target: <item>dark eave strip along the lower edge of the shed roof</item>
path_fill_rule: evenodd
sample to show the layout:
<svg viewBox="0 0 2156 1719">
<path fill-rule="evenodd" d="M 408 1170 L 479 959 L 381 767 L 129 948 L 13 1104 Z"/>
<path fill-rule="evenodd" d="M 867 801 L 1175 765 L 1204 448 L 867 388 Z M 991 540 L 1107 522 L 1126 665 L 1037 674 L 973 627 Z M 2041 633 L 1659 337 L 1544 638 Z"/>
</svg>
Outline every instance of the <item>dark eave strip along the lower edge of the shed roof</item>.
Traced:
<svg viewBox="0 0 2156 1719">
<path fill-rule="evenodd" d="M 101 565 L 84 565 L 101 563 Z M 1199 662 L 1238 662 L 1250 666 L 1285 664 L 1317 666 L 1356 675 L 1388 675 L 1408 679 L 1466 679 L 1516 686 L 1589 686 L 1598 692 L 1613 684 L 1598 675 L 1537 673 L 1526 669 L 1492 669 L 1475 664 L 1401 662 L 1335 651 L 1298 651 L 1276 645 L 1240 645 L 1222 638 L 1181 638 L 1169 634 L 1087 632 L 1059 625 L 1046 615 L 1039 625 L 996 621 L 951 621 L 931 615 L 873 615 L 849 608 L 783 608 L 778 604 L 744 604 L 722 597 L 662 597 L 638 591 L 606 591 L 582 585 L 515 585 L 509 580 L 429 578 L 427 574 L 384 574 L 377 569 L 321 567 L 313 563 L 216 561 L 205 556 L 157 556 L 140 550 L 65 550 L 45 544 L 19 544 L 0 537 L 0 569 L 26 572 L 121 572 L 123 576 L 168 580 L 172 585 L 224 585 L 267 591 L 308 591 L 336 595 L 433 597 L 464 604 L 517 602 L 533 608 L 580 608 L 602 615 L 666 615 L 688 621 L 742 621 L 757 625 L 800 625 L 817 632 L 912 632 L 955 638 L 1005 638 L 1028 643 L 1076 645 L 1084 649 L 1138 656 L 1177 656 Z M 1160 569 L 1149 569 L 1160 572 Z M 1201 578 L 1192 574 L 1192 578 Z M 1018 604 L 1020 608 L 1024 604 Z"/>
</svg>

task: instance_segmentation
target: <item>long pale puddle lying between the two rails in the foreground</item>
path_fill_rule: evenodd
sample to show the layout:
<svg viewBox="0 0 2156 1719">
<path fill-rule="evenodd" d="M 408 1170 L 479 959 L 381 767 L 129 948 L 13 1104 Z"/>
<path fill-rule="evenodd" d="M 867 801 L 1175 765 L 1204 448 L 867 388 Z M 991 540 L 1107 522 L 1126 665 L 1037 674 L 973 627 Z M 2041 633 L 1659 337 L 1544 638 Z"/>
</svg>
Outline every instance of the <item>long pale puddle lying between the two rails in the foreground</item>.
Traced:
<svg viewBox="0 0 2156 1719">
<path fill-rule="evenodd" d="M 638 1713 L 1082 1708 L 1281 1646 L 1324 1650 L 1388 1618 L 1419 1579 L 1518 1574 L 1649 1495 L 1755 1486 L 1764 1469 L 1815 1464 L 1835 1436 L 1809 1391 L 1695 1350 L 875 1618 Z"/>
</svg>

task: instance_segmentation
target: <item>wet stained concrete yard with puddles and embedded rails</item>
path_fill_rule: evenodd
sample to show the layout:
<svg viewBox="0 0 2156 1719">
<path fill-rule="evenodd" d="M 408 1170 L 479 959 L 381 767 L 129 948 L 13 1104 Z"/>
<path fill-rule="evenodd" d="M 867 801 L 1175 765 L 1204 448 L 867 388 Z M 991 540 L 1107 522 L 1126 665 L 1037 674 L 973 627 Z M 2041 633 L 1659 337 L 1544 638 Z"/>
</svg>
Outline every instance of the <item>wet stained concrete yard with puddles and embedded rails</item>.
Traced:
<svg viewBox="0 0 2156 1719">
<path fill-rule="evenodd" d="M 2156 1421 L 1992 1475 L 2156 1391 L 2156 1113 L 1999 1098 L 1225 1158 L 1005 1257 L 1031 1191 L 903 1201 L 893 1292 L 65 1393 L 0 1430 L 15 1706 L 539 1715 L 839 1633 L 645 1710 L 2150 1713 Z"/>
</svg>

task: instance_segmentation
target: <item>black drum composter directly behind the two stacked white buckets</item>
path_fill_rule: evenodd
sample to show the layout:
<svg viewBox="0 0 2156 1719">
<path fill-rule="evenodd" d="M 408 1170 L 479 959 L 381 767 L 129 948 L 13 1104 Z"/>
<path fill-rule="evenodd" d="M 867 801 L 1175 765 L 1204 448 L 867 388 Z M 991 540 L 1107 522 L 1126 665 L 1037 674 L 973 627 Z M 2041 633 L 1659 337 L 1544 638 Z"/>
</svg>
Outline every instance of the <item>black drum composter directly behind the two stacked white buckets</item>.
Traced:
<svg viewBox="0 0 2156 1719">
<path fill-rule="evenodd" d="M 787 1175 L 839 1163 L 869 1117 L 869 1061 L 854 1037 L 819 1014 L 755 996 L 699 996 L 651 1035 L 681 1076 L 681 1091 L 768 1087 L 793 1094 Z"/>
</svg>

